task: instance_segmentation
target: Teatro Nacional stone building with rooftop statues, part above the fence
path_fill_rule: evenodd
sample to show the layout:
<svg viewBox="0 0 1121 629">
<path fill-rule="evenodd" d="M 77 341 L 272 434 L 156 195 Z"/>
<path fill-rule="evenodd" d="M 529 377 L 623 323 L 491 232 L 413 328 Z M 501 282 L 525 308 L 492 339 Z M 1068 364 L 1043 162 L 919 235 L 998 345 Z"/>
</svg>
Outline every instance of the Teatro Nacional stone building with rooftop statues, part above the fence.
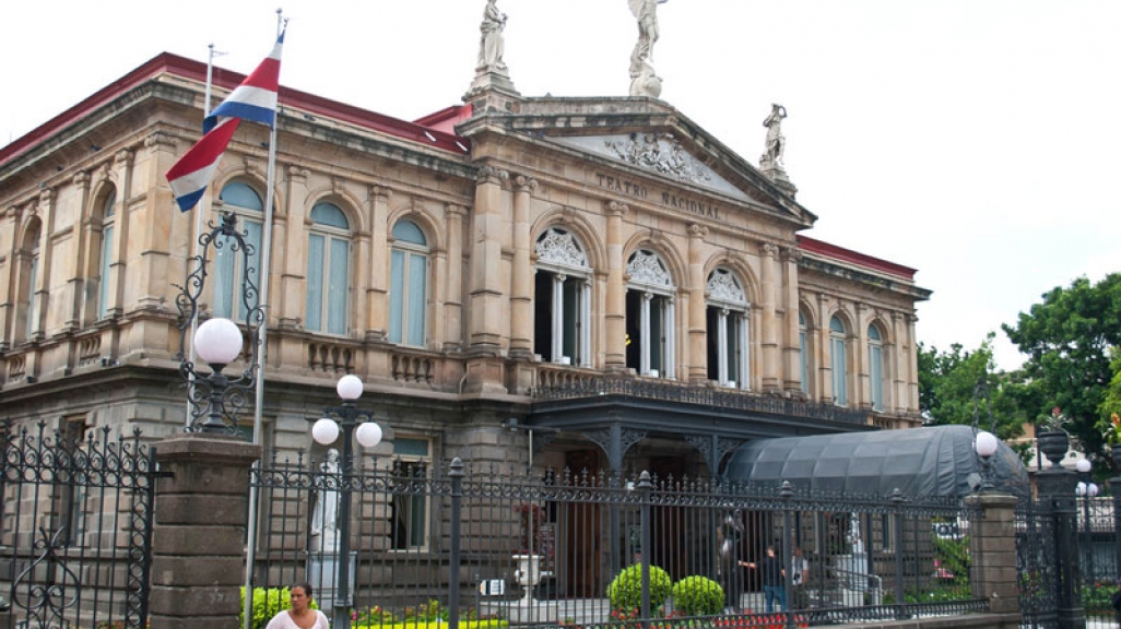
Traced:
<svg viewBox="0 0 1121 629">
<path fill-rule="evenodd" d="M 757 165 L 657 98 L 641 30 L 611 98 L 521 95 L 500 38 L 484 28 L 463 104 L 414 122 L 281 87 L 267 453 L 312 447 L 345 373 L 378 452 L 421 465 L 712 475 L 756 438 L 920 423 L 930 293 L 813 238 L 781 107 Z M 268 226 L 263 126 L 194 212 L 174 205 L 205 76 L 157 56 L 0 149 L 0 419 L 183 431 L 194 212 L 234 214 L 258 257 Z M 241 78 L 216 71 L 217 98 Z M 204 316 L 243 316 L 241 263 L 213 261 Z"/>
</svg>

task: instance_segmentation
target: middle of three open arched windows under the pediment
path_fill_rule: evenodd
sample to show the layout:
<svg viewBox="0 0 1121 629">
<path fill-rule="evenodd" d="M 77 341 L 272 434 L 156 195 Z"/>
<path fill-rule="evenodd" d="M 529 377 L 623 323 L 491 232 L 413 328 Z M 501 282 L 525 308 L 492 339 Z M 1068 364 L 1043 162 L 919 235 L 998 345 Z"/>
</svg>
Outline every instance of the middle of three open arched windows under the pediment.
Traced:
<svg viewBox="0 0 1121 629">
<path fill-rule="evenodd" d="M 627 262 L 627 367 L 642 376 L 674 378 L 676 289 L 665 262 L 639 249 Z"/>
</svg>

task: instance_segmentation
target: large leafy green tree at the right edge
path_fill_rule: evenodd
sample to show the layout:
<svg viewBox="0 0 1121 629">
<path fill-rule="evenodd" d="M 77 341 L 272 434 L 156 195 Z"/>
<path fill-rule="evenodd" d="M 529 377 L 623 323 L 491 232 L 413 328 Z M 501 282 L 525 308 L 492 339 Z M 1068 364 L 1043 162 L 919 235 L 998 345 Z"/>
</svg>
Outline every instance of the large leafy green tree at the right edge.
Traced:
<svg viewBox="0 0 1121 629">
<path fill-rule="evenodd" d="M 1083 451 L 1099 453 L 1100 407 L 1113 377 L 1110 351 L 1121 343 L 1121 274 L 1097 284 L 1081 277 L 1043 299 L 1020 313 L 1016 325 L 1001 326 L 1028 355 L 1023 401 L 1036 404 L 1036 414 L 1060 408 Z"/>
</svg>

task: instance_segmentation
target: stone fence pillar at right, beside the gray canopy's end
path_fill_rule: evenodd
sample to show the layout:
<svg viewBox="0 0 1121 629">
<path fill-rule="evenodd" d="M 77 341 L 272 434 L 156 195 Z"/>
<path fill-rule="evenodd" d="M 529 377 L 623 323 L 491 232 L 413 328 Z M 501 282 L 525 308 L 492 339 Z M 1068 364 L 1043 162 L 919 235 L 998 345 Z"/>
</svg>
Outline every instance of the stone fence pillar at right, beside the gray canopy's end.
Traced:
<svg viewBox="0 0 1121 629">
<path fill-rule="evenodd" d="M 970 554 L 976 579 L 973 598 L 988 599 L 989 611 L 1001 614 L 1020 613 L 1020 593 L 1016 568 L 1016 503 L 1017 498 L 1007 493 L 974 493 L 965 503 L 981 510 L 980 521 L 973 522 L 970 535 Z M 1003 626 L 1018 627 L 1018 619 L 1002 621 Z"/>
</svg>

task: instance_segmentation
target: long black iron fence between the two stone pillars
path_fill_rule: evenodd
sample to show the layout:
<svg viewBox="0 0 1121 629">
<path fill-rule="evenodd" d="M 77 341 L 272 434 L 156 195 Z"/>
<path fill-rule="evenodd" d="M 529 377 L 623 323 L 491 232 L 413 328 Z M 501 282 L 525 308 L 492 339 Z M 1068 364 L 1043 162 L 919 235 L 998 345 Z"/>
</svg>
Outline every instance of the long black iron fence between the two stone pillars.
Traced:
<svg viewBox="0 0 1121 629">
<path fill-rule="evenodd" d="M 360 627 L 821 625 L 988 609 L 970 554 L 984 522 L 960 501 L 373 459 L 343 471 L 274 461 L 251 482 L 258 593 L 306 580 Z M 334 521 L 346 499 L 351 521 Z M 353 591 L 336 591 L 340 568 Z"/>
</svg>

